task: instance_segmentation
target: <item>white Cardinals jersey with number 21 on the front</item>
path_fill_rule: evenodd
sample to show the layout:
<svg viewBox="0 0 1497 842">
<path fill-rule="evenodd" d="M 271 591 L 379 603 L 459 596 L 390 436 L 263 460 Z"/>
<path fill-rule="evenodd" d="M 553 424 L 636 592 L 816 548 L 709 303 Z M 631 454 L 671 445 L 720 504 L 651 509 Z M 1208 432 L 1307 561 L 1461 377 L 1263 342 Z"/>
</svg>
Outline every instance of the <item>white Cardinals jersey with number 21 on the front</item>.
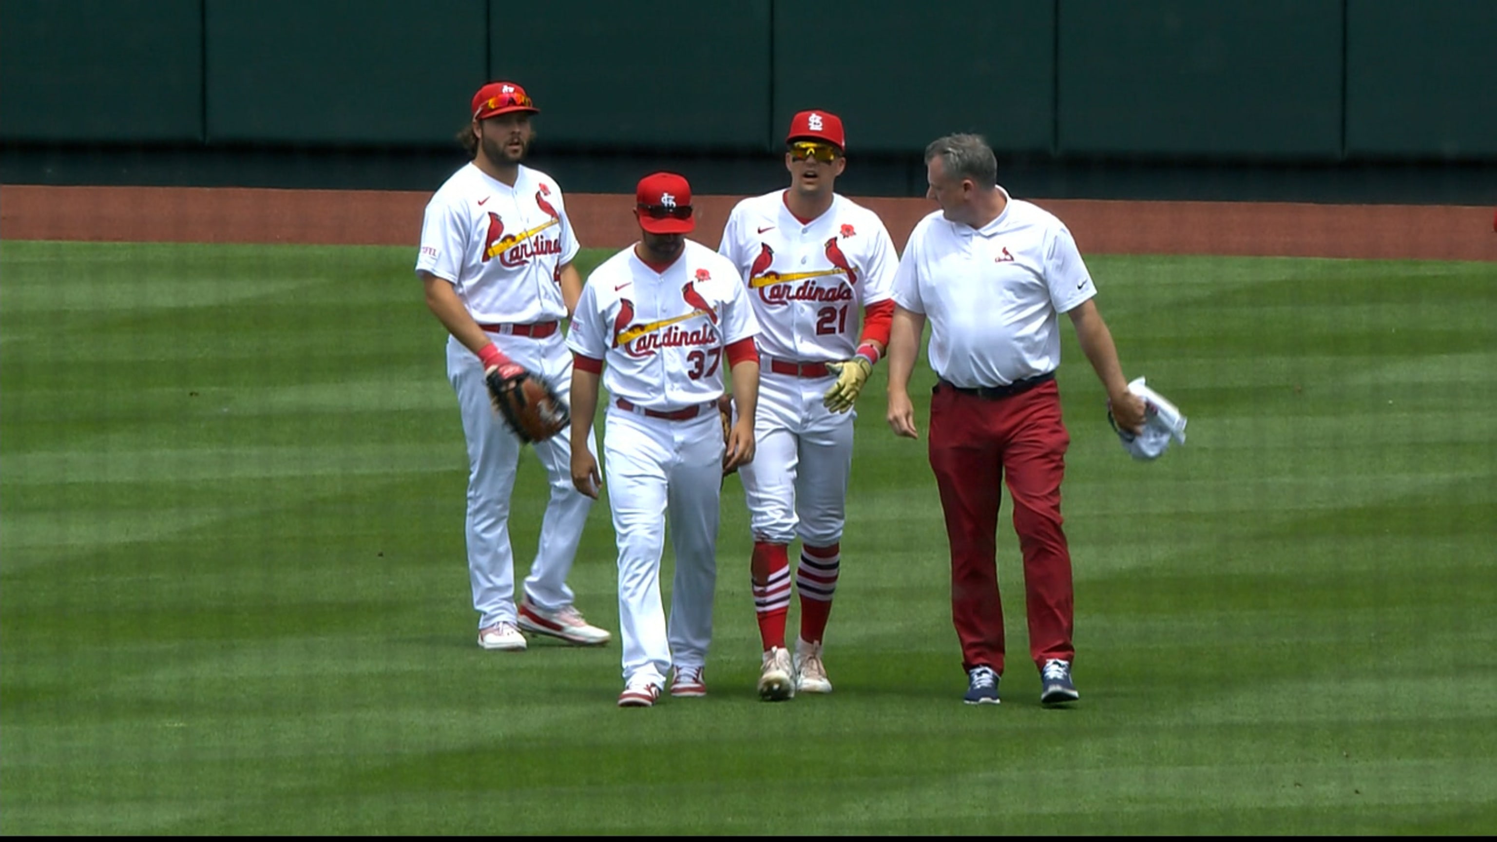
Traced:
<svg viewBox="0 0 1497 842">
<path fill-rule="evenodd" d="M 826 363 L 858 349 L 859 306 L 894 294 L 894 252 L 883 220 L 840 195 L 810 223 L 784 190 L 738 202 L 717 250 L 734 262 L 759 316 L 759 351 Z"/>
</svg>

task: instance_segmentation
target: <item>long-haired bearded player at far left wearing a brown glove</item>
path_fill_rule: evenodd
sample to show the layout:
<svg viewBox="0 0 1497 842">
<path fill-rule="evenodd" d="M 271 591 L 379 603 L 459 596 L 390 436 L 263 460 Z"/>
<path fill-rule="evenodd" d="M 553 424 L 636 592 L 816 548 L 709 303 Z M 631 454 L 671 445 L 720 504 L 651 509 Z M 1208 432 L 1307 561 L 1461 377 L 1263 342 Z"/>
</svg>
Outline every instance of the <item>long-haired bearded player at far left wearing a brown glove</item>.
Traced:
<svg viewBox="0 0 1497 842">
<path fill-rule="evenodd" d="M 513 82 L 491 82 L 473 94 L 472 121 L 461 135 L 473 162 L 427 205 L 416 261 L 427 306 L 451 334 L 448 379 L 467 436 L 467 556 L 478 643 L 501 650 L 525 649 L 521 629 L 578 646 L 609 640 L 582 619 L 566 584 L 593 503 L 572 487 L 570 430 L 534 445 L 551 500 L 524 601 L 515 607 L 509 497 L 524 442 L 496 415 L 488 379 L 539 378 L 566 399 L 572 355 L 560 319 L 582 291 L 561 189 L 521 163 L 536 112 Z M 578 449 L 593 449 L 588 425 L 576 436 L 584 442 Z"/>
</svg>

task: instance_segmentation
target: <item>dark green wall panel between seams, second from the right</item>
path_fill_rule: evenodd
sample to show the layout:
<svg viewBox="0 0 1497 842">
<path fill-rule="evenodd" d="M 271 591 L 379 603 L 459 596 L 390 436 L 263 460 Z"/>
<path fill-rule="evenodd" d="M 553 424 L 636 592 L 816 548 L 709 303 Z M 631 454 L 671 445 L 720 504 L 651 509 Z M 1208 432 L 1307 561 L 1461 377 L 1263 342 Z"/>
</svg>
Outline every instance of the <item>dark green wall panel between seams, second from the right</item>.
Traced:
<svg viewBox="0 0 1497 842">
<path fill-rule="evenodd" d="M 1060 151 L 1341 153 L 1341 0 L 1058 0 Z"/>
</svg>

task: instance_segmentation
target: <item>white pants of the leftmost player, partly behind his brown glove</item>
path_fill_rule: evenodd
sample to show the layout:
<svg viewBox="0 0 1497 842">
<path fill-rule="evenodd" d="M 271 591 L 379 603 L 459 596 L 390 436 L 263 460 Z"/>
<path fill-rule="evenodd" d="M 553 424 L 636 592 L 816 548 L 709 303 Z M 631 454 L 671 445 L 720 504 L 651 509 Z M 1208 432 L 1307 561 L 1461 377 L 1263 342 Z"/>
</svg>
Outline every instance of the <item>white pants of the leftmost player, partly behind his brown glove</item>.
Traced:
<svg viewBox="0 0 1497 842">
<path fill-rule="evenodd" d="M 561 333 L 546 339 L 488 334 L 510 360 L 545 378 L 563 399 L 572 393 L 572 352 Z M 448 379 L 458 396 L 463 431 L 467 436 L 467 556 L 473 584 L 473 608 L 479 628 L 513 623 L 515 556 L 509 545 L 509 497 L 519 467 L 519 439 L 494 412 L 484 382 L 484 366 L 457 339 L 448 339 Z M 572 571 L 582 526 L 593 500 L 572 485 L 572 430 L 531 445 L 546 469 L 551 502 L 540 523 L 540 545 L 525 578 L 530 601 L 554 611 L 572 604 L 566 577 Z M 597 452 L 588 431 L 587 448 Z"/>
</svg>

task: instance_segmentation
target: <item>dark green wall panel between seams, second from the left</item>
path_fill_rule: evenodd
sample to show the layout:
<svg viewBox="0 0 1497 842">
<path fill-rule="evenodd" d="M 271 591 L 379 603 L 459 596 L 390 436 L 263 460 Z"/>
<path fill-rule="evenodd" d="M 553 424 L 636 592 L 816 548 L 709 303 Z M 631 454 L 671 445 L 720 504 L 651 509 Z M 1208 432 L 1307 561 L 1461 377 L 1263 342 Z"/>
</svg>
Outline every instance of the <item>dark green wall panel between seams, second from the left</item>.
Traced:
<svg viewBox="0 0 1497 842">
<path fill-rule="evenodd" d="M 485 0 L 205 0 L 208 142 L 455 144 Z"/>
</svg>

